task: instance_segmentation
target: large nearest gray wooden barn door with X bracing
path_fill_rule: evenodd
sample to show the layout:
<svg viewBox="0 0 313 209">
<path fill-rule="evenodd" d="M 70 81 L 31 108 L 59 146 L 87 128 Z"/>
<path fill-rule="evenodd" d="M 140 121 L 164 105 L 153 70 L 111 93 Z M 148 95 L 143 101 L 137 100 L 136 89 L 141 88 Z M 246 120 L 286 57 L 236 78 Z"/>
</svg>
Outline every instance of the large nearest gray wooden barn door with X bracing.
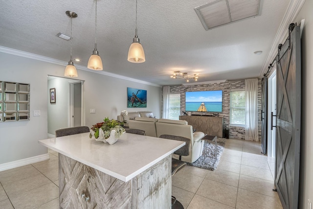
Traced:
<svg viewBox="0 0 313 209">
<path fill-rule="evenodd" d="M 301 128 L 300 26 L 289 27 L 289 39 L 277 60 L 275 186 L 284 209 L 298 208 Z M 291 32 L 292 31 L 292 32 Z"/>
</svg>

